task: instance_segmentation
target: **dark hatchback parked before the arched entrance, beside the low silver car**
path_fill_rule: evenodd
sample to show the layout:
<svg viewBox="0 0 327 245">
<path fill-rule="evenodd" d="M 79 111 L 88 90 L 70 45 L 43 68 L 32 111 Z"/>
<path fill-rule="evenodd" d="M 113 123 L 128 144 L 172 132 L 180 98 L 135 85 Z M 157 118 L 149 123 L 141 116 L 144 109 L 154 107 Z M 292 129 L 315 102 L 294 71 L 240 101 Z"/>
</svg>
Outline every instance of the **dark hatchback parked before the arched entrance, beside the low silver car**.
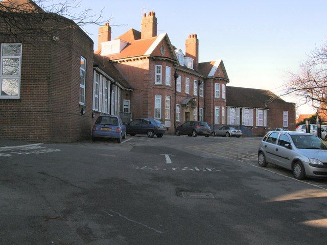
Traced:
<svg viewBox="0 0 327 245">
<path fill-rule="evenodd" d="M 211 129 L 205 121 L 186 121 L 182 125 L 176 128 L 175 134 L 182 135 L 186 134 L 190 137 L 196 137 L 198 135 L 204 135 L 209 137 Z"/>
</svg>

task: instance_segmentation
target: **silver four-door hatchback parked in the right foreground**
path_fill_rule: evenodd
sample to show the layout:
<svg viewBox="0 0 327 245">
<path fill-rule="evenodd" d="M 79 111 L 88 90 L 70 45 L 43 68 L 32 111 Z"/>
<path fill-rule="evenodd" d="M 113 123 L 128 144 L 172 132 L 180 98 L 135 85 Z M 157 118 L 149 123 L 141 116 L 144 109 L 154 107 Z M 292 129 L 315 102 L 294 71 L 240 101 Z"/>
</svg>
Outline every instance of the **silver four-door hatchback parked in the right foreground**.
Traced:
<svg viewBox="0 0 327 245">
<path fill-rule="evenodd" d="M 312 134 L 268 132 L 260 142 L 258 163 L 272 163 L 293 171 L 296 179 L 327 177 L 327 144 Z"/>
</svg>

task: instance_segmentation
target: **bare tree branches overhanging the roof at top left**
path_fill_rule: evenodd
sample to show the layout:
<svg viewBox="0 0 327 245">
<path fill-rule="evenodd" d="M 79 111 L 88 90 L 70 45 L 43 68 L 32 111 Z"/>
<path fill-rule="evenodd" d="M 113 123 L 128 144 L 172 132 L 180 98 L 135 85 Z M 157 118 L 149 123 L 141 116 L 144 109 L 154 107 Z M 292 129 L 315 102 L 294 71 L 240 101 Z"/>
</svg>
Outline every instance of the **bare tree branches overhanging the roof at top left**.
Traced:
<svg viewBox="0 0 327 245">
<path fill-rule="evenodd" d="M 102 11 L 92 14 L 91 9 L 74 12 L 80 7 L 75 0 L 3 0 L 0 2 L 0 36 L 18 40 L 52 37 L 63 29 L 82 28 L 87 24 L 102 25 Z"/>
</svg>

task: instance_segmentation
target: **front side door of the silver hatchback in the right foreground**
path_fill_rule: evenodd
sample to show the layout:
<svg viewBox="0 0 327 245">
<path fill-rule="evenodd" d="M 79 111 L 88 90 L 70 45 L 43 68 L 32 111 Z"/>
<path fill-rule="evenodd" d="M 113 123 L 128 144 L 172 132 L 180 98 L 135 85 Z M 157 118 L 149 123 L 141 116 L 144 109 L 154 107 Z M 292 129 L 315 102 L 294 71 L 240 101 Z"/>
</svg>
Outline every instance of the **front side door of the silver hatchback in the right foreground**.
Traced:
<svg viewBox="0 0 327 245">
<path fill-rule="evenodd" d="M 275 151 L 278 165 L 291 169 L 293 150 L 291 140 L 286 134 L 279 135 Z"/>
</svg>

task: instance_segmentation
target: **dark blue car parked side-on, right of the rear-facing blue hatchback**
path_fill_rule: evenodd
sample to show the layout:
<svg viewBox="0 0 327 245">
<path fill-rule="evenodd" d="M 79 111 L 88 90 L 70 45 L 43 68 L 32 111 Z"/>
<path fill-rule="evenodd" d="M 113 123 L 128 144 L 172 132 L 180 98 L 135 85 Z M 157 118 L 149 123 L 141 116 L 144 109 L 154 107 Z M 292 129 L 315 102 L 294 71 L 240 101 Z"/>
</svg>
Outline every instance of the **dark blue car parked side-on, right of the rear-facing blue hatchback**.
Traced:
<svg viewBox="0 0 327 245">
<path fill-rule="evenodd" d="M 161 121 L 154 118 L 136 118 L 126 125 L 126 131 L 131 136 L 146 134 L 149 138 L 154 135 L 161 138 L 166 133 L 166 127 Z"/>
</svg>

